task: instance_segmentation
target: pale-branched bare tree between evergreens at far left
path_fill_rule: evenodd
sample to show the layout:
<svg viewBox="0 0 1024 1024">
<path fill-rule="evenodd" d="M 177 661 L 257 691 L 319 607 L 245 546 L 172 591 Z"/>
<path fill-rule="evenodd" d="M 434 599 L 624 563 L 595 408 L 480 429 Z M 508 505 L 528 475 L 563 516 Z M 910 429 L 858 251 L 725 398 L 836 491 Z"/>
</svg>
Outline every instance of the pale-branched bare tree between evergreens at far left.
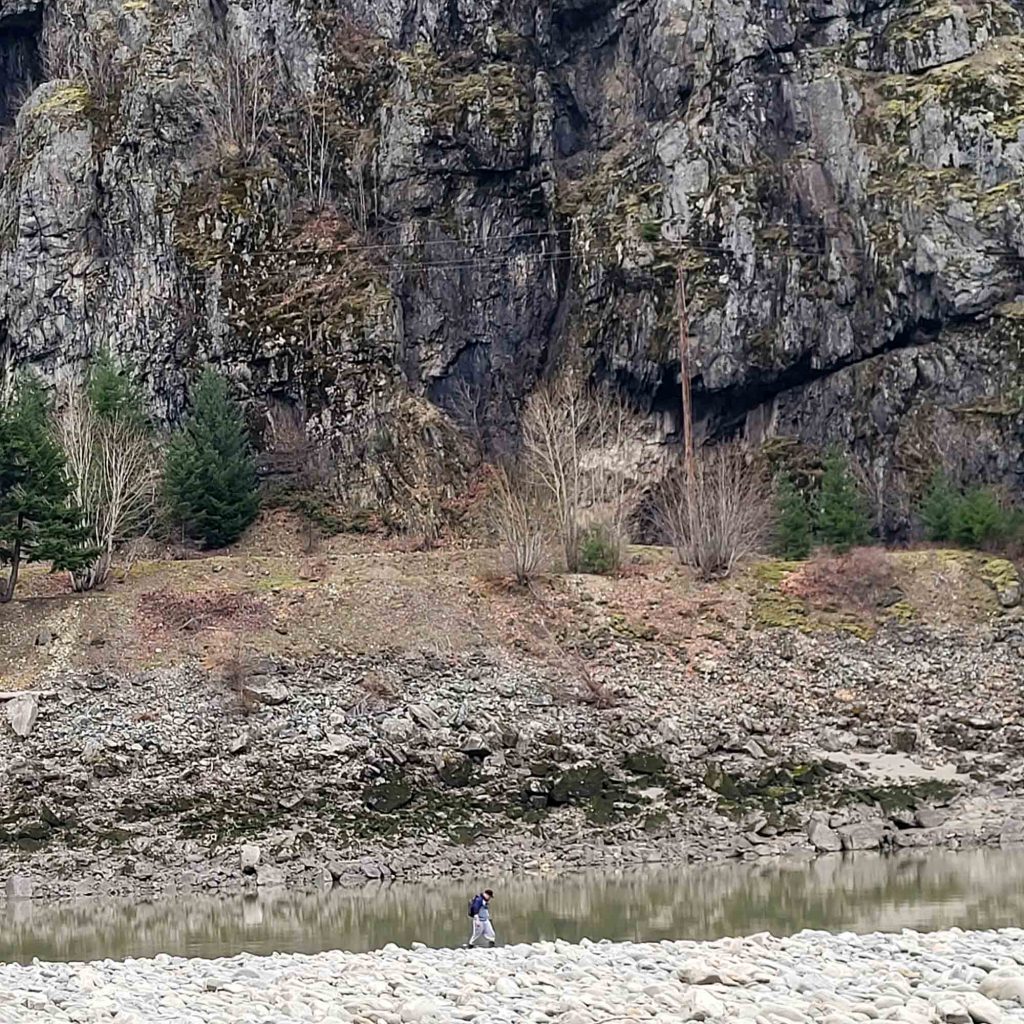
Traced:
<svg viewBox="0 0 1024 1024">
<path fill-rule="evenodd" d="M 58 429 L 75 499 L 82 508 L 95 562 L 72 574 L 77 591 L 106 582 L 115 548 L 144 529 L 157 500 L 159 462 L 145 428 L 122 417 L 97 416 L 81 388 L 69 390 Z"/>
</svg>

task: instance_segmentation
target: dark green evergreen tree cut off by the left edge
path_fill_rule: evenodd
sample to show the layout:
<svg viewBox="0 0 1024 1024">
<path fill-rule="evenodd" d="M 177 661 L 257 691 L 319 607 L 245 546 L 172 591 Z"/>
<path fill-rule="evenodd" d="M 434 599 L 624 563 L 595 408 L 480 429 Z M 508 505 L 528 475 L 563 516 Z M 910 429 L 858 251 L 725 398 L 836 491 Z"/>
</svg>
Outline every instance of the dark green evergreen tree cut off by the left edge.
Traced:
<svg viewBox="0 0 1024 1024">
<path fill-rule="evenodd" d="M 95 557 L 82 511 L 72 500 L 63 453 L 53 435 L 49 403 L 38 382 L 17 383 L 0 413 L 0 603 L 10 601 L 25 562 L 76 571 Z"/>
</svg>

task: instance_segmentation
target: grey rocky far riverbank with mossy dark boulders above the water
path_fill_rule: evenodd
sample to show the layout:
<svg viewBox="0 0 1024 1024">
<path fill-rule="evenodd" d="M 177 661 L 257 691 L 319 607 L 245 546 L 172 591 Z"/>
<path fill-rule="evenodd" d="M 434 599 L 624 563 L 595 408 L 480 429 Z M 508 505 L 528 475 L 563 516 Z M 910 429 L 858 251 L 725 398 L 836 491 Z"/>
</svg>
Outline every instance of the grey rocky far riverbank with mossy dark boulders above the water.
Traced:
<svg viewBox="0 0 1024 1024">
<path fill-rule="evenodd" d="M 1024 631 L 67 672 L 7 701 L 11 895 L 156 894 L 1024 836 Z"/>
</svg>

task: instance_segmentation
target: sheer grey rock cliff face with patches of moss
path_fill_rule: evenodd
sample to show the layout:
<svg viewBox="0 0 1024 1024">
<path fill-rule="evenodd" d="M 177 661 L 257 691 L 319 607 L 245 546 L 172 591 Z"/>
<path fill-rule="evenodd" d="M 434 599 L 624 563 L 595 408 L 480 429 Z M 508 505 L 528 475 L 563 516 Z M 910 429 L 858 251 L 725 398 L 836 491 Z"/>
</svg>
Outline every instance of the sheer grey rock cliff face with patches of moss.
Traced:
<svg viewBox="0 0 1024 1024">
<path fill-rule="evenodd" d="M 8 374 L 210 359 L 381 494 L 566 353 L 671 435 L 682 263 L 707 434 L 1024 480 L 1019 4 L 0 0 L 0 123 Z"/>
</svg>

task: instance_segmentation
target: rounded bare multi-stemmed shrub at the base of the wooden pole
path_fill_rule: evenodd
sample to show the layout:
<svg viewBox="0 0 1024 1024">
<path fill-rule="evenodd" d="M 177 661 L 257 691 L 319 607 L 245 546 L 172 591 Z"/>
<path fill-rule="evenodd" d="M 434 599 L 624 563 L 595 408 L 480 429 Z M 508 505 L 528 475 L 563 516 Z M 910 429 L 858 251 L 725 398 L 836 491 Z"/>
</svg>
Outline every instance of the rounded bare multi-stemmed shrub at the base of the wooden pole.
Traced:
<svg viewBox="0 0 1024 1024">
<path fill-rule="evenodd" d="M 771 488 L 764 470 L 740 443 L 716 444 L 676 467 L 654 505 L 664 539 L 679 560 L 703 579 L 728 575 L 759 551 L 772 525 Z"/>
</svg>

